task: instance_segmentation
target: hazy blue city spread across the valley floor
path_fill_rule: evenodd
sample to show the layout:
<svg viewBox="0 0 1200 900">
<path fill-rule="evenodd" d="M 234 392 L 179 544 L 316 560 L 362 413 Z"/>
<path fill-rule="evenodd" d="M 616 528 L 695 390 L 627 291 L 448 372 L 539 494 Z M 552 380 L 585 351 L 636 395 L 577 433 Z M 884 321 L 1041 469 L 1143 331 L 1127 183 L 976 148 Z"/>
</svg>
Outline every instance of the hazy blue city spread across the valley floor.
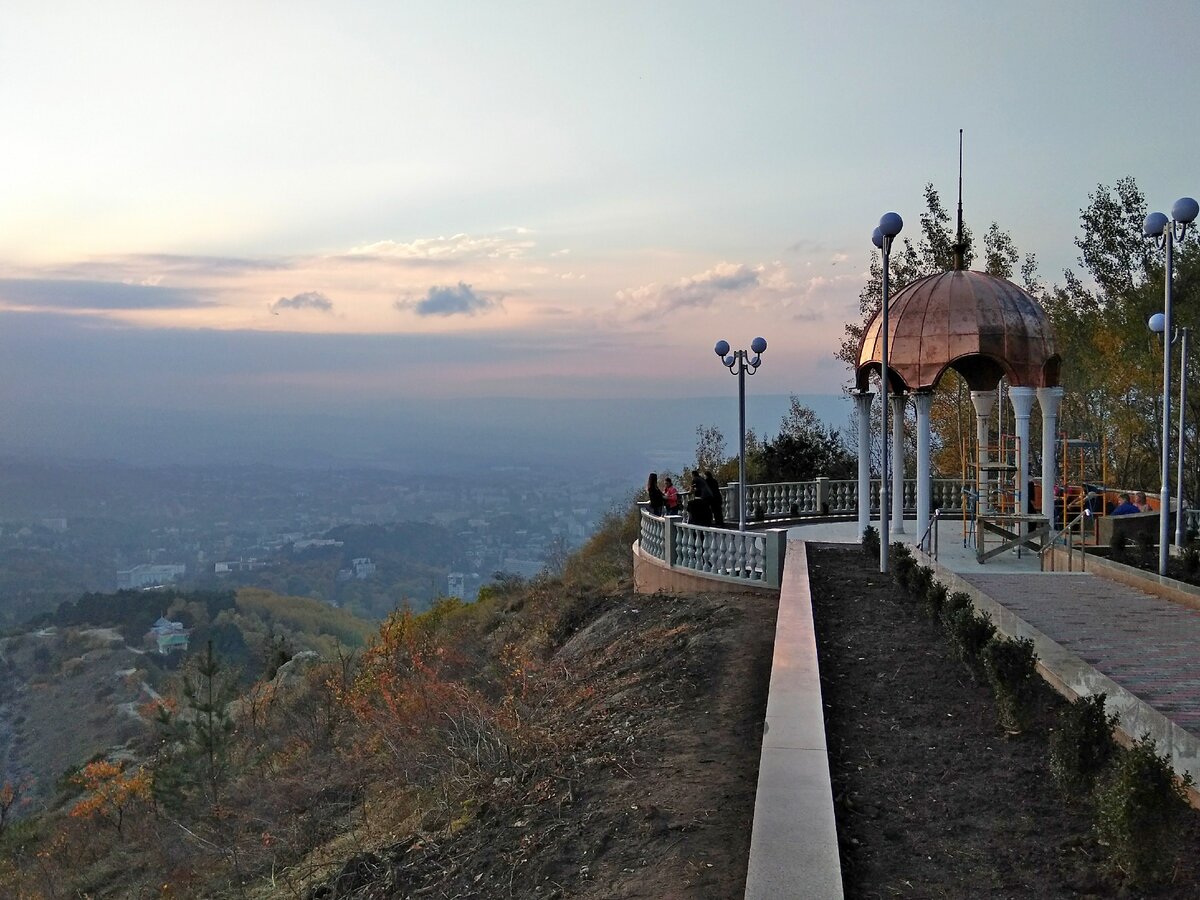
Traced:
<svg viewBox="0 0 1200 900">
<path fill-rule="evenodd" d="M 4 469 L 0 616 L 10 625 L 83 593 L 162 586 L 263 587 L 365 618 L 474 599 L 496 574 L 553 570 L 619 487 L 564 491 L 515 466 L 424 478 L 19 460 Z"/>
</svg>

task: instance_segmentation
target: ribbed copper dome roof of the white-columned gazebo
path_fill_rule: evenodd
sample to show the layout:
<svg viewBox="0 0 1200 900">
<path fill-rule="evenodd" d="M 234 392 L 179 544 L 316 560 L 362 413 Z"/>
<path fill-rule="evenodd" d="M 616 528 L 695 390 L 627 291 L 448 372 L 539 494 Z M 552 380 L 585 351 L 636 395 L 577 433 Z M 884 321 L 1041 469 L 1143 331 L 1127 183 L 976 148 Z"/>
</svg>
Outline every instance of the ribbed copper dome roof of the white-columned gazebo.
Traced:
<svg viewBox="0 0 1200 900">
<path fill-rule="evenodd" d="M 857 386 L 880 370 L 880 313 L 858 347 Z M 888 368 L 893 390 L 930 390 L 947 368 L 971 390 L 1054 388 L 1060 356 L 1054 329 L 1037 301 L 986 272 L 949 271 L 913 282 L 888 304 Z"/>
</svg>

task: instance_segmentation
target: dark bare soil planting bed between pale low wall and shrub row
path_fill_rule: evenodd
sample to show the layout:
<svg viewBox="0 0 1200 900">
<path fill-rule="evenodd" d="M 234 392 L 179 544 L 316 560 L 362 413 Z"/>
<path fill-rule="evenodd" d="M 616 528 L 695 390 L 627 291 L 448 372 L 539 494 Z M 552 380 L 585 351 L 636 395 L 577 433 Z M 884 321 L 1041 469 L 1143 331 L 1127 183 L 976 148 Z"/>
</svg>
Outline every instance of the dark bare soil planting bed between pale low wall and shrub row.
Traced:
<svg viewBox="0 0 1200 900">
<path fill-rule="evenodd" d="M 1100 876 L 1087 806 L 1051 780 L 1062 701 L 1045 689 L 1031 727 L 1006 734 L 990 690 L 858 547 L 810 544 L 809 559 L 846 896 L 1138 895 Z M 1196 854 L 1147 895 L 1200 896 Z"/>
</svg>

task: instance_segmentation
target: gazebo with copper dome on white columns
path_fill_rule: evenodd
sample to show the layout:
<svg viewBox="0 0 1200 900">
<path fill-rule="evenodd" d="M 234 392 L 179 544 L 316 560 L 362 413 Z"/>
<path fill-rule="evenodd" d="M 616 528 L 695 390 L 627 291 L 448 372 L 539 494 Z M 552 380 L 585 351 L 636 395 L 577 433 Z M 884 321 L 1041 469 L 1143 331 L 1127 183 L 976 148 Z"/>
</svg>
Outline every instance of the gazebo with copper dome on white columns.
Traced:
<svg viewBox="0 0 1200 900">
<path fill-rule="evenodd" d="M 858 348 L 854 398 L 858 407 L 858 521 L 870 523 L 871 377 L 881 372 L 881 313 L 868 323 Z M 996 386 L 1008 380 L 1016 425 L 1018 509 L 1027 506 L 1030 414 L 1033 397 L 1042 409 L 1042 515 L 1054 511 L 1055 434 L 1062 388 L 1061 356 L 1045 312 L 1028 293 L 986 272 L 955 269 L 907 286 L 888 304 L 888 391 L 892 402 L 892 530 L 904 530 L 904 409 L 910 395 L 917 408 L 917 533 L 930 521 L 930 413 L 934 389 L 953 368 L 971 389 L 979 445 L 979 473 L 988 496 L 989 422 Z M 886 475 L 886 473 L 884 473 Z"/>
</svg>

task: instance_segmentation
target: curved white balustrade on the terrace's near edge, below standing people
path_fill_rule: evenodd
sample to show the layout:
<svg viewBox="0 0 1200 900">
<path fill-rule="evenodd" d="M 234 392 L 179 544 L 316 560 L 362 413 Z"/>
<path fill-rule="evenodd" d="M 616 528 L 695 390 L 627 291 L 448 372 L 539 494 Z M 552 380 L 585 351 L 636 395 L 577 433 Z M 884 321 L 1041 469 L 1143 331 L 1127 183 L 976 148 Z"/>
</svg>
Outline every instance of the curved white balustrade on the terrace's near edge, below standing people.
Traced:
<svg viewBox="0 0 1200 900">
<path fill-rule="evenodd" d="M 686 524 L 680 516 L 655 516 L 644 508 L 641 512 L 642 553 L 666 568 L 730 583 L 779 588 L 786 529 L 736 532 Z"/>
</svg>

